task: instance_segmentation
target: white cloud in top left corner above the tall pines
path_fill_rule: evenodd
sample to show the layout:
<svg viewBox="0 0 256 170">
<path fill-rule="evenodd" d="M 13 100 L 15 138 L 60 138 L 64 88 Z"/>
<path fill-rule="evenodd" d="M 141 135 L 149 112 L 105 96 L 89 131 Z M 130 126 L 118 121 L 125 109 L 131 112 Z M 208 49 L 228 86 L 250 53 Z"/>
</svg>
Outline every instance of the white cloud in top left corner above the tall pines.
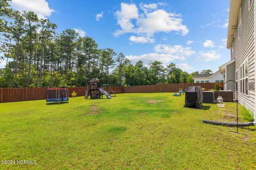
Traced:
<svg viewBox="0 0 256 170">
<path fill-rule="evenodd" d="M 33 11 L 38 18 L 47 18 L 54 12 L 46 0 L 12 0 L 11 6 L 18 11 Z"/>
</svg>

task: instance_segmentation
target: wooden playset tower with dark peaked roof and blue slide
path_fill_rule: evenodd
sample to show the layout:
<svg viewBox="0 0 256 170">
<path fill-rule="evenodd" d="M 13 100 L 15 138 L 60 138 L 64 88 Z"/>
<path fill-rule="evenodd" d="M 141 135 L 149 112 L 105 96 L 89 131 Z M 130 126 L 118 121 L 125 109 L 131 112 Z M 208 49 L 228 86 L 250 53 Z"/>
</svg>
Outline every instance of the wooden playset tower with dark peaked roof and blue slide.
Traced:
<svg viewBox="0 0 256 170">
<path fill-rule="evenodd" d="M 107 99 L 111 98 L 109 93 L 102 88 L 100 80 L 98 78 L 92 78 L 87 84 L 84 99 L 88 99 L 89 96 L 90 99 L 100 99 L 103 98 L 103 95 L 105 95 Z"/>
</svg>

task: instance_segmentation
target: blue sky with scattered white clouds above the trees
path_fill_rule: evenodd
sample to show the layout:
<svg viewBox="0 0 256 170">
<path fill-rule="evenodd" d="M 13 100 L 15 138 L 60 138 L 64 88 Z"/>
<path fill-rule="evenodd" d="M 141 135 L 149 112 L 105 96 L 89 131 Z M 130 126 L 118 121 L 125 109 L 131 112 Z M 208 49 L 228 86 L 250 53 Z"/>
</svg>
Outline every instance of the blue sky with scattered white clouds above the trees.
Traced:
<svg viewBox="0 0 256 170">
<path fill-rule="evenodd" d="M 92 37 L 99 48 L 122 52 L 133 64 L 173 62 L 191 73 L 215 72 L 230 60 L 228 0 L 12 0 L 11 5 L 56 23 L 59 33 L 74 29 L 79 36 Z"/>
</svg>

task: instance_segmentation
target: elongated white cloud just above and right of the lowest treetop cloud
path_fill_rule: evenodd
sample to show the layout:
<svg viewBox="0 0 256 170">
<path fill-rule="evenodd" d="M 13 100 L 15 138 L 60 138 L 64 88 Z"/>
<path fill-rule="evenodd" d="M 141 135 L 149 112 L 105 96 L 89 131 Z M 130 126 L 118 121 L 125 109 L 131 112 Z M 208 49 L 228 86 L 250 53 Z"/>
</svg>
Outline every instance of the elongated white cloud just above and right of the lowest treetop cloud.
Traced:
<svg viewBox="0 0 256 170">
<path fill-rule="evenodd" d="M 165 53 L 165 54 L 174 54 L 178 56 L 190 56 L 195 54 L 190 47 L 183 47 L 181 45 L 165 45 L 165 44 L 158 44 L 154 47 L 155 51 L 158 53 Z"/>
</svg>

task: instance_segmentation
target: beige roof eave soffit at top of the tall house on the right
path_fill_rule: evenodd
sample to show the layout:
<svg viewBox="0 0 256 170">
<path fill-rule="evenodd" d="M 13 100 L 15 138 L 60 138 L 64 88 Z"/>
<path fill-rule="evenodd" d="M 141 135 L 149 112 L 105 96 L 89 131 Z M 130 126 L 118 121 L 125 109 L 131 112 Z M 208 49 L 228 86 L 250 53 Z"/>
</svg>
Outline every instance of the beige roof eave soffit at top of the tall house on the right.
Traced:
<svg viewBox="0 0 256 170">
<path fill-rule="evenodd" d="M 227 48 L 231 48 L 233 44 L 241 2 L 242 0 L 230 0 L 229 3 Z"/>
</svg>

